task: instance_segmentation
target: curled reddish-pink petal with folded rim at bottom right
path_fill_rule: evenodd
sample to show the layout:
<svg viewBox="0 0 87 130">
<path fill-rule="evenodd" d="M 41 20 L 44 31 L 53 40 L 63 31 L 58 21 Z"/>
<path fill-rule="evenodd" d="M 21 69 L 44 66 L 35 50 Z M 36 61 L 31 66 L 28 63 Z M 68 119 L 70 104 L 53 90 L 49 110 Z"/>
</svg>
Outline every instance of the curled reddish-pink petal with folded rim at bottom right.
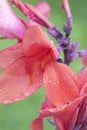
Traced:
<svg viewBox="0 0 87 130">
<path fill-rule="evenodd" d="M 72 130 L 78 115 L 78 105 L 81 103 L 85 95 L 75 99 L 69 104 L 62 105 L 61 107 L 53 105 L 45 105 L 40 111 L 42 117 L 54 117 L 56 127 L 61 130 Z"/>
</svg>

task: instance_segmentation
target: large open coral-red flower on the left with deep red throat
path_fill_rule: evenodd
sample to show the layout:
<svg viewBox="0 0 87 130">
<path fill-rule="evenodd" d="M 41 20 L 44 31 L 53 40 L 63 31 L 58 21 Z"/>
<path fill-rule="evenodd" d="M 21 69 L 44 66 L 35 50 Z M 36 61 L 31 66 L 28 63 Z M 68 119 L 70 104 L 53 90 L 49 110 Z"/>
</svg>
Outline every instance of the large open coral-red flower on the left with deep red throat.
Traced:
<svg viewBox="0 0 87 130">
<path fill-rule="evenodd" d="M 22 42 L 0 51 L 0 103 L 12 103 L 34 93 L 43 82 L 44 69 L 59 57 L 56 47 L 37 25 Z"/>
</svg>

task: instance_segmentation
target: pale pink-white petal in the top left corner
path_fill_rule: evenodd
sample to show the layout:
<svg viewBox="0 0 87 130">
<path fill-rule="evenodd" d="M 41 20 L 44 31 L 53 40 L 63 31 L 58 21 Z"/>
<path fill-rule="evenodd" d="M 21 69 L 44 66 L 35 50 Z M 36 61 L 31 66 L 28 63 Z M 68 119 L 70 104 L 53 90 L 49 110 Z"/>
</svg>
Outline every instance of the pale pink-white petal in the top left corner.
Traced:
<svg viewBox="0 0 87 130">
<path fill-rule="evenodd" d="M 0 34 L 6 38 L 21 39 L 25 26 L 12 11 L 8 0 L 0 0 Z"/>
</svg>

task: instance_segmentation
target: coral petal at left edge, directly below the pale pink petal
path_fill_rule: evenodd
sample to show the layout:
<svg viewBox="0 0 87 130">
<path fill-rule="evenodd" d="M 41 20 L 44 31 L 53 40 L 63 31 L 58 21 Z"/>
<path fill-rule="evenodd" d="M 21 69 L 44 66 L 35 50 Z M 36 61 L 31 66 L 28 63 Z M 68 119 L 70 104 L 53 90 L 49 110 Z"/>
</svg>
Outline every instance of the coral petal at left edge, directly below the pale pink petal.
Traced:
<svg viewBox="0 0 87 130">
<path fill-rule="evenodd" d="M 23 55 L 21 43 L 0 51 L 0 68 L 5 69 Z"/>
</svg>

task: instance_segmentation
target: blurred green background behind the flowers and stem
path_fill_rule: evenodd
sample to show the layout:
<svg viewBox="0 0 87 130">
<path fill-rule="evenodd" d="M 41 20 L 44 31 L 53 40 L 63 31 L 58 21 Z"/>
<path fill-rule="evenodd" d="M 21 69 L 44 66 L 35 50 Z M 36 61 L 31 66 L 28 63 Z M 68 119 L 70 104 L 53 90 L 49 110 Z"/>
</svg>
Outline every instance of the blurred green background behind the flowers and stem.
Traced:
<svg viewBox="0 0 87 130">
<path fill-rule="evenodd" d="M 23 1 L 29 2 L 32 5 L 40 2 L 40 0 Z M 61 0 L 46 1 L 51 6 L 50 21 L 62 31 L 63 24 L 66 23 L 66 17 L 61 9 Z M 80 43 L 80 49 L 83 49 L 87 46 L 87 0 L 70 0 L 70 5 L 73 14 L 71 39 L 72 41 L 78 41 Z M 23 16 L 16 7 L 12 8 L 18 15 Z M 0 50 L 15 42 L 15 40 L 1 40 Z M 71 64 L 76 72 L 81 68 L 80 61 L 80 59 L 75 60 Z M 43 100 L 44 90 L 41 88 L 25 100 L 9 105 L 0 105 L 0 130 L 29 130 L 30 122 L 38 116 Z M 50 125 L 47 120 L 44 123 L 44 130 L 54 130 L 54 126 Z"/>
</svg>

